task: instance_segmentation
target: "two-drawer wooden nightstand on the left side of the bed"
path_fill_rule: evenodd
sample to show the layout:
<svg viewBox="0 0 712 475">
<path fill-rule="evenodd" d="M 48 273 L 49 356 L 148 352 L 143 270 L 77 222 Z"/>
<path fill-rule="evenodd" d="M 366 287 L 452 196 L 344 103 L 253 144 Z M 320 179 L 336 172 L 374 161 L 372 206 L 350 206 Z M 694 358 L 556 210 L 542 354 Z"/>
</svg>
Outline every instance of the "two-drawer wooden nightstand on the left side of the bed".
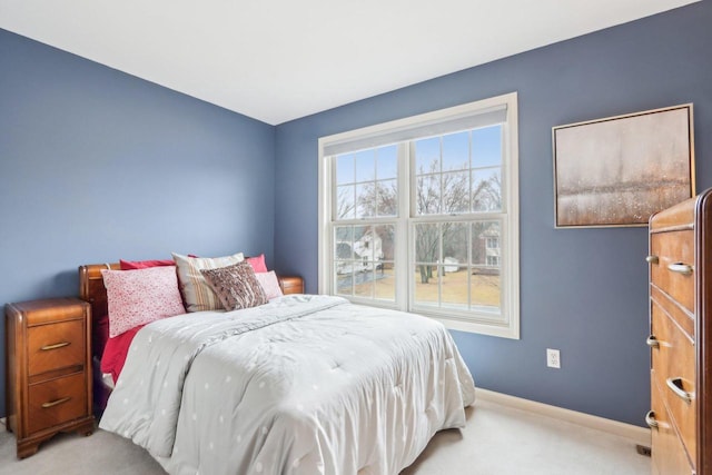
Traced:
<svg viewBox="0 0 712 475">
<path fill-rule="evenodd" d="M 59 432 L 93 432 L 91 310 L 77 298 L 8 304 L 8 431 L 19 458 Z"/>
</svg>

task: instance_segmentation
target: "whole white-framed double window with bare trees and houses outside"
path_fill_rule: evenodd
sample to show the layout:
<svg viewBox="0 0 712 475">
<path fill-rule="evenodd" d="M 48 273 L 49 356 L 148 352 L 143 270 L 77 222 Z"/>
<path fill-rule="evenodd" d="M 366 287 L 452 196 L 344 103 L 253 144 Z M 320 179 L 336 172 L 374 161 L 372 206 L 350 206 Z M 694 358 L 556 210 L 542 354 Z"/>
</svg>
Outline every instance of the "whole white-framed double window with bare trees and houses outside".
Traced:
<svg viewBox="0 0 712 475">
<path fill-rule="evenodd" d="M 518 338 L 516 93 L 319 139 L 319 291 Z"/>
</svg>

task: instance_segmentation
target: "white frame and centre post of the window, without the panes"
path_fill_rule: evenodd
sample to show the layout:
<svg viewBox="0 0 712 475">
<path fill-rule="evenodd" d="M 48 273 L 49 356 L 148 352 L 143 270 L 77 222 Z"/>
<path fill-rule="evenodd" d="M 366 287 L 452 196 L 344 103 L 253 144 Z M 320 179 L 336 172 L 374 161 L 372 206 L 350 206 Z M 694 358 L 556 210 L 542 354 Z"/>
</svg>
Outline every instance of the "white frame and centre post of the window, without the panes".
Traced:
<svg viewBox="0 0 712 475">
<path fill-rule="evenodd" d="M 334 165 L 325 149 L 334 145 L 348 142 L 368 142 L 369 138 L 377 138 L 394 131 L 422 128 L 429 123 L 442 123 L 452 121 L 461 117 L 475 117 L 487 113 L 496 108 L 506 108 L 506 120 L 503 133 L 503 164 L 502 164 L 502 212 L 483 212 L 482 219 L 495 219 L 502 221 L 502 235 L 500 246 L 502 249 L 501 270 L 503 276 L 503 291 L 501 319 L 478 319 L 476 317 L 463 317 L 462 315 L 446 315 L 444 311 L 431 313 L 423 306 L 414 307 L 414 284 L 409 278 L 398 278 L 396 280 L 395 304 L 375 301 L 370 299 L 359 299 L 350 297 L 354 303 L 411 310 L 441 320 L 446 327 L 477 333 L 484 335 L 500 336 L 505 338 L 520 338 L 520 211 L 518 211 L 518 113 L 517 93 L 478 100 L 462 106 L 427 112 L 405 119 L 378 123 L 357 130 L 322 137 L 318 140 L 318 174 L 319 174 L 319 215 L 318 215 L 318 291 L 319 294 L 335 294 L 333 286 L 333 191 L 334 191 Z M 407 147 L 406 147 L 407 148 Z M 400 149 L 400 147 L 399 147 Z M 409 226 L 413 226 L 409 218 L 413 216 L 408 207 L 408 192 L 411 186 L 411 162 L 408 154 L 398 154 L 398 167 L 402 172 L 398 175 L 398 212 L 396 224 L 396 268 L 409 266 L 415 254 L 413 234 Z M 403 219 L 406 217 L 407 219 Z M 457 219 L 453 217 L 453 219 Z M 477 218 L 479 219 L 479 217 Z M 392 219 L 388 219 L 389 221 Z M 407 243 L 407 245 L 404 245 Z M 404 264 L 405 263 L 405 264 Z"/>
</svg>

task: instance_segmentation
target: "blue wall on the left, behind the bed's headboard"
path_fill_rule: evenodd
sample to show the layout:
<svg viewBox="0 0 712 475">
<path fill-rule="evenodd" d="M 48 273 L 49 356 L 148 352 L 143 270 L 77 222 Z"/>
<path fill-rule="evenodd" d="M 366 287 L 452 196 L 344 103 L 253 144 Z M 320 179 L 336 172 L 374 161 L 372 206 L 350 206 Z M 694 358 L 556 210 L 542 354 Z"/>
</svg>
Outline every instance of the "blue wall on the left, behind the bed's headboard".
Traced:
<svg viewBox="0 0 712 475">
<path fill-rule="evenodd" d="M 273 126 L 0 30 L 0 305 L 77 295 L 81 264 L 271 260 L 274 144 Z M 3 416 L 4 325 L 0 355 Z"/>
</svg>

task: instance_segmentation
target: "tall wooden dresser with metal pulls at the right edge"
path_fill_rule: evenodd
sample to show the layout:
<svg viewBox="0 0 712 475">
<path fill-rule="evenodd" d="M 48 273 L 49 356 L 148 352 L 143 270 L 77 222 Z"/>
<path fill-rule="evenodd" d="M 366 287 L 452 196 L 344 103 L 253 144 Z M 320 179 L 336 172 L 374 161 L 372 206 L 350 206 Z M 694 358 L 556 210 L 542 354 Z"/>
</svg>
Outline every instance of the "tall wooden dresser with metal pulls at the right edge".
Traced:
<svg viewBox="0 0 712 475">
<path fill-rule="evenodd" d="M 650 220 L 653 473 L 712 475 L 712 190 Z"/>
</svg>

